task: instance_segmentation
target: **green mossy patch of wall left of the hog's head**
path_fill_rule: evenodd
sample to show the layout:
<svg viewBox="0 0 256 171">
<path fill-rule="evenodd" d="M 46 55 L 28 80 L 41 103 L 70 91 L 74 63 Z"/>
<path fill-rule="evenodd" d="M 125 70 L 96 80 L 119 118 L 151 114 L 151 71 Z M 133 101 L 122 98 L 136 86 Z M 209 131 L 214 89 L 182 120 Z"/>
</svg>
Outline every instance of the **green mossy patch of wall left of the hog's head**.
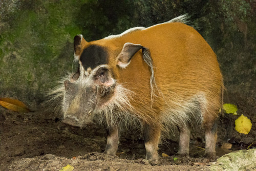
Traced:
<svg viewBox="0 0 256 171">
<path fill-rule="evenodd" d="M 41 98 L 63 70 L 71 70 L 76 1 L 21 2 L 5 18 L 0 37 L 0 96 Z M 68 49 L 67 49 L 68 48 Z M 63 53 L 65 51 L 65 53 Z"/>
</svg>

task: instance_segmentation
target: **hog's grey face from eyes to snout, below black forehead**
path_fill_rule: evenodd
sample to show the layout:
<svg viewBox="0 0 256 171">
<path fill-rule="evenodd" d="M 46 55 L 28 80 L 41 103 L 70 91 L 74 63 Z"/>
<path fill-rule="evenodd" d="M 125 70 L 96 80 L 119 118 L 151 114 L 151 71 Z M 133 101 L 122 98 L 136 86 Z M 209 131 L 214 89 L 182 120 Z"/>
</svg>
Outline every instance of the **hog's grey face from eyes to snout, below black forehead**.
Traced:
<svg viewBox="0 0 256 171">
<path fill-rule="evenodd" d="M 64 82 L 62 122 L 83 127 L 93 121 L 96 107 L 100 108 L 111 98 L 115 80 L 105 65 L 100 65 L 94 72 L 87 72 L 72 81 L 76 74 L 71 77 L 71 80 Z"/>
</svg>

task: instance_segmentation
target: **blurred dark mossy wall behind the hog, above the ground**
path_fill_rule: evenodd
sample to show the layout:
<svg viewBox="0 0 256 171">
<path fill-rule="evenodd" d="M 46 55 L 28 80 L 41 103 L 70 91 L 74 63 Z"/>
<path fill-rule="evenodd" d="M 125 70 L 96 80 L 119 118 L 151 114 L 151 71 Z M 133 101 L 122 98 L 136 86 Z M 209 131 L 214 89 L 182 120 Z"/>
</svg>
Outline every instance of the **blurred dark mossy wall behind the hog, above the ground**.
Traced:
<svg viewBox="0 0 256 171">
<path fill-rule="evenodd" d="M 71 71 L 73 37 L 88 41 L 148 27 L 188 13 L 214 49 L 228 90 L 255 98 L 253 0 L 0 1 L 0 96 L 34 108 Z"/>
</svg>

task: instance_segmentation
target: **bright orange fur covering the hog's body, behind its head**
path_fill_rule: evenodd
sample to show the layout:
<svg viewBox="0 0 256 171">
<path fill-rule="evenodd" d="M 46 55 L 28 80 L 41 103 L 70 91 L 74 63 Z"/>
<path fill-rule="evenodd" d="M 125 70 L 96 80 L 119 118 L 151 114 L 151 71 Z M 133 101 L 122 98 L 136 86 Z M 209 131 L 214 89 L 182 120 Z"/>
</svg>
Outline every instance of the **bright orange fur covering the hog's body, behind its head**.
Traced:
<svg viewBox="0 0 256 171">
<path fill-rule="evenodd" d="M 143 61 L 141 50 L 125 69 L 117 66 L 116 57 L 126 42 L 150 49 L 156 84 L 163 95 L 157 94 L 153 106 L 149 81 L 151 73 Z M 161 122 L 160 115 L 171 115 L 165 113 L 169 108 L 178 109 L 198 94 L 204 94 L 206 100 L 203 123 L 218 117 L 222 75 L 215 53 L 194 28 L 182 23 L 166 23 L 89 43 L 92 44 L 108 48 L 109 65 L 117 82 L 134 92 L 130 102 L 135 111 L 146 115 L 146 122 L 158 124 Z"/>
</svg>

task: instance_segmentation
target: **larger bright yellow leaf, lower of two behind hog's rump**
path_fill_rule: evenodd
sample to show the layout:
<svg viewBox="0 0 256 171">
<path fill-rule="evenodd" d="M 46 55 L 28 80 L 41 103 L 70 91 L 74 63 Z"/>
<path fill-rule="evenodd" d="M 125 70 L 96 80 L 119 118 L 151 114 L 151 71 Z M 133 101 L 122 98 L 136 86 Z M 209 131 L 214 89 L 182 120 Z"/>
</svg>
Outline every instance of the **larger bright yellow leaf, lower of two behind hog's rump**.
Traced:
<svg viewBox="0 0 256 171">
<path fill-rule="evenodd" d="M 236 125 L 237 132 L 239 133 L 248 134 L 251 130 L 251 120 L 243 114 L 234 121 L 234 124 Z"/>
</svg>

